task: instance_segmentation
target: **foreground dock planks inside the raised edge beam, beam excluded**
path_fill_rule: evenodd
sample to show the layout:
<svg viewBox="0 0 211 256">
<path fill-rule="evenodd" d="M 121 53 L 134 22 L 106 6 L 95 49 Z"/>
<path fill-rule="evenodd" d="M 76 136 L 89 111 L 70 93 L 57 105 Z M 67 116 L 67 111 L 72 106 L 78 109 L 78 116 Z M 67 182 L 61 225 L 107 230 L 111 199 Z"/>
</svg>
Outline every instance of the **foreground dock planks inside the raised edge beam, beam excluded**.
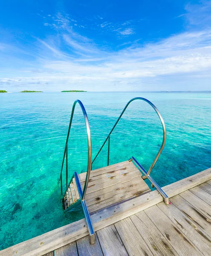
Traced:
<svg viewBox="0 0 211 256">
<path fill-rule="evenodd" d="M 211 180 L 45 256 L 211 256 Z"/>
</svg>

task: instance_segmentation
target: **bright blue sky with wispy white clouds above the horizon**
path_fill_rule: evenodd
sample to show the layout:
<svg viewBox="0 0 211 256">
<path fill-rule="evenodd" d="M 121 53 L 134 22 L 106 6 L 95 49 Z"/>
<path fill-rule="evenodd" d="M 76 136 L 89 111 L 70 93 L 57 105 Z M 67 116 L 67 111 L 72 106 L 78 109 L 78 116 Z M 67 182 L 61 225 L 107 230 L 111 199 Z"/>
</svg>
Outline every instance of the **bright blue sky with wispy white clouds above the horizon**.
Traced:
<svg viewBox="0 0 211 256">
<path fill-rule="evenodd" d="M 211 90 L 211 0 L 0 0 L 0 90 Z"/>
</svg>

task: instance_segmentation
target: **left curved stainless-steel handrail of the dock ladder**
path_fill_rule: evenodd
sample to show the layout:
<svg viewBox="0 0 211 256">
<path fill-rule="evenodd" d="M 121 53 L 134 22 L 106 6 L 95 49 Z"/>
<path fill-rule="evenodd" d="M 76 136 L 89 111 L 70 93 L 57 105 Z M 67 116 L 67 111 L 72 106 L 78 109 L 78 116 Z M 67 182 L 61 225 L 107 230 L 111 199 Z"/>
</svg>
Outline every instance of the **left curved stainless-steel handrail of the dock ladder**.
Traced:
<svg viewBox="0 0 211 256">
<path fill-rule="evenodd" d="M 84 105 L 82 104 L 82 102 L 77 99 L 73 105 L 72 105 L 72 113 L 71 113 L 71 117 L 70 117 L 70 121 L 69 121 L 69 128 L 68 128 L 68 132 L 67 132 L 67 137 L 66 137 L 66 144 L 65 144 L 65 149 L 64 149 L 64 157 L 63 157 L 63 161 L 62 161 L 62 166 L 61 166 L 61 174 L 60 174 L 60 179 L 61 180 L 61 187 L 62 187 L 62 169 L 64 166 L 64 159 L 65 159 L 65 155 L 66 155 L 66 168 L 67 168 L 67 143 L 68 143 L 68 139 L 69 139 L 69 132 L 70 132 L 70 128 L 72 125 L 72 118 L 73 118 L 73 114 L 75 111 L 75 105 L 79 104 L 81 107 L 81 110 L 83 112 L 84 115 L 84 120 L 85 120 L 85 124 L 86 124 L 86 128 L 87 128 L 87 140 L 88 140 L 88 166 L 87 166 L 87 175 L 86 175 L 86 180 L 84 183 L 84 190 L 83 190 L 83 194 L 82 194 L 82 198 L 81 200 L 84 200 L 86 191 L 87 191 L 87 186 L 88 186 L 88 180 L 90 178 L 90 172 L 92 169 L 92 143 L 91 143 L 91 133 L 90 133 L 90 124 L 89 124 L 89 120 L 87 117 L 87 112 L 84 108 Z M 67 169 L 66 169 L 66 187 L 68 186 L 68 181 L 67 181 Z M 62 189 L 62 188 L 61 188 Z"/>
</svg>

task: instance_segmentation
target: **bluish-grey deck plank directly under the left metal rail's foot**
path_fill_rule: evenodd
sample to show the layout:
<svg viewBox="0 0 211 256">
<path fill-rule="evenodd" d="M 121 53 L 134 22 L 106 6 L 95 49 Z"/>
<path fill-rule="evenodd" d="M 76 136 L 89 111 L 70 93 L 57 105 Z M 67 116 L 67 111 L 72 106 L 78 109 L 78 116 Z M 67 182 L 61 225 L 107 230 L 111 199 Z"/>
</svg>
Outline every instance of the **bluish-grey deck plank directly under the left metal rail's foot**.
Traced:
<svg viewBox="0 0 211 256">
<path fill-rule="evenodd" d="M 95 235 L 95 244 L 90 244 L 90 237 L 85 236 L 76 241 L 78 256 L 103 256 L 98 237 Z"/>
</svg>

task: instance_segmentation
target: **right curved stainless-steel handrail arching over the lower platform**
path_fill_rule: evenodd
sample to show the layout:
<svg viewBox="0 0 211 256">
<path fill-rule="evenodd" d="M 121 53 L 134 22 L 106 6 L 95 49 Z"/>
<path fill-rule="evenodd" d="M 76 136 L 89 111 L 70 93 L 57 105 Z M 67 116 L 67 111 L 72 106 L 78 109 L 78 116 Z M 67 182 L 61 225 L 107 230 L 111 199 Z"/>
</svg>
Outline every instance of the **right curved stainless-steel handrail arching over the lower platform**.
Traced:
<svg viewBox="0 0 211 256">
<path fill-rule="evenodd" d="M 105 143 L 107 142 L 107 140 L 108 140 L 108 139 L 110 140 L 110 135 L 111 135 L 111 133 L 113 132 L 113 130 L 114 130 L 114 128 L 116 127 L 116 125 L 118 124 L 119 119 L 120 119 L 121 116 L 124 114 L 124 111 L 127 109 L 128 105 L 129 105 L 131 102 L 133 102 L 134 100 L 136 100 L 136 99 L 143 100 L 143 101 L 147 102 L 148 104 L 150 104 L 150 105 L 153 107 L 153 109 L 156 111 L 156 113 L 157 113 L 158 116 L 159 116 L 159 119 L 160 119 L 160 121 L 161 121 L 162 128 L 163 128 L 163 141 L 162 141 L 162 145 L 161 145 L 161 147 L 160 147 L 160 149 L 159 149 L 159 151 L 158 151 L 158 153 L 157 153 L 157 155 L 156 155 L 156 157 L 155 157 L 155 159 L 154 159 L 152 165 L 150 166 L 150 169 L 149 169 L 148 172 L 147 172 L 147 175 L 149 175 L 150 172 L 151 172 L 151 170 L 153 169 L 154 165 L 156 164 L 156 162 L 157 162 L 157 160 L 158 160 L 158 158 L 159 158 L 159 156 L 160 156 L 160 154 L 161 154 L 161 152 L 162 152 L 164 146 L 165 146 L 165 141 L 166 141 L 166 129 L 165 129 L 164 120 L 163 120 L 163 118 L 162 118 L 160 112 L 158 111 L 158 109 L 156 108 L 156 106 L 153 105 L 153 103 L 150 102 L 148 99 L 141 98 L 141 97 L 136 97 L 136 98 L 131 99 L 129 102 L 127 102 L 127 105 L 124 107 L 124 109 L 123 109 L 123 111 L 121 112 L 119 118 L 117 119 L 115 125 L 114 125 L 113 128 L 111 129 L 111 131 L 110 131 L 110 133 L 108 134 L 106 140 L 104 141 L 103 145 L 101 146 L 100 150 L 98 151 L 98 154 L 100 153 L 101 149 L 104 147 L 104 145 L 105 145 Z M 92 161 L 92 163 L 95 161 L 95 159 L 97 158 L 98 154 L 95 156 L 95 158 L 94 158 L 94 160 Z"/>
</svg>

